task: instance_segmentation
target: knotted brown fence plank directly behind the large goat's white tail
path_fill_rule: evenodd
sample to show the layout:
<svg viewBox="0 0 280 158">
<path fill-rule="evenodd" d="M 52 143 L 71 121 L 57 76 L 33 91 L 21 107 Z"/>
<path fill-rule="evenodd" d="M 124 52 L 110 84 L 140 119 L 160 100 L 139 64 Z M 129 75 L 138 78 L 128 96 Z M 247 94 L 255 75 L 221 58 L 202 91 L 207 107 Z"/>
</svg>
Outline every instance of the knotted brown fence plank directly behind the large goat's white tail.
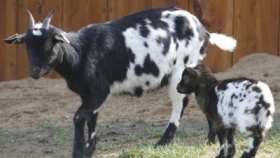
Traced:
<svg viewBox="0 0 280 158">
<path fill-rule="evenodd" d="M 232 36 L 233 0 L 193 0 L 189 10 L 202 21 L 208 32 Z M 204 63 L 213 72 L 225 71 L 232 65 L 232 54 L 209 44 Z"/>
</svg>

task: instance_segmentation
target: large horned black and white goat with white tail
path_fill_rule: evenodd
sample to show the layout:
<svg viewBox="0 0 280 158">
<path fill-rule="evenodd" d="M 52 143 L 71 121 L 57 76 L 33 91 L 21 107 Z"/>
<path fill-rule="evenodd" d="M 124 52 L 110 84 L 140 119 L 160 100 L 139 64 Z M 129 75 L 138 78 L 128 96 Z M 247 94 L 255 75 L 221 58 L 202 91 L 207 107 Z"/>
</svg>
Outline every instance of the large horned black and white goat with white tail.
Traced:
<svg viewBox="0 0 280 158">
<path fill-rule="evenodd" d="M 208 33 L 195 16 L 175 7 L 144 10 L 67 33 L 50 25 L 54 10 L 42 24 L 35 24 L 28 13 L 27 33 L 15 34 L 5 41 L 25 43 L 32 78 L 38 79 L 54 69 L 81 97 L 82 105 L 73 119 L 73 157 L 91 157 L 96 145 L 98 109 L 109 94 L 141 96 L 143 91 L 164 85 L 169 86 L 173 110 L 156 145 L 170 142 L 188 103 L 187 96 L 176 91 L 184 65 L 202 60 L 208 41 L 226 51 L 236 46 L 235 39 Z"/>
</svg>

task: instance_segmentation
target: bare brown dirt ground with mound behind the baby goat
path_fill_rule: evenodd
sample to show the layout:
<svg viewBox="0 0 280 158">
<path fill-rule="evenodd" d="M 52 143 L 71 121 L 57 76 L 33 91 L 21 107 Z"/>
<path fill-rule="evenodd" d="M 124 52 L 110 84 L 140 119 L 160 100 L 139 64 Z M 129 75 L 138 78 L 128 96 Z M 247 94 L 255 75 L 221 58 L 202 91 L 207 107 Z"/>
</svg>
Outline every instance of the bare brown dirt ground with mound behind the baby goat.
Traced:
<svg viewBox="0 0 280 158">
<path fill-rule="evenodd" d="M 273 91 L 276 110 L 280 106 L 280 58 L 277 56 L 249 55 L 216 76 L 262 80 Z M 80 104 L 78 96 L 68 90 L 63 79 L 0 82 L 0 158 L 70 157 L 72 117 Z M 146 122 L 163 132 L 170 114 L 166 88 L 145 93 L 141 98 L 111 96 L 100 109 L 97 127 L 100 140 L 95 154 L 114 157 L 135 143 L 155 143 L 157 139 L 146 139 Z M 189 128 L 207 129 L 193 100 L 182 122 L 182 126 Z M 132 133 L 141 139 L 133 139 Z"/>
</svg>

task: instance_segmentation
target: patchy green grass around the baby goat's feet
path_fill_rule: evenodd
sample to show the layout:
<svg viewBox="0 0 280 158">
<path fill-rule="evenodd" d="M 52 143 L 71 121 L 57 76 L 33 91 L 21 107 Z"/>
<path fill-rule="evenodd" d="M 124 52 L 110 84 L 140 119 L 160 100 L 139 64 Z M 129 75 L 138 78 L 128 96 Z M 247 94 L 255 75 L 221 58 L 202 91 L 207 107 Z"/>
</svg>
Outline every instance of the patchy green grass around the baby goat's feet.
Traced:
<svg viewBox="0 0 280 158">
<path fill-rule="evenodd" d="M 149 138 L 160 137 L 160 130 L 147 126 L 146 128 Z M 214 145 L 206 144 L 206 131 L 191 130 L 182 128 L 177 130 L 174 143 L 168 146 L 132 146 L 123 150 L 119 154 L 119 158 L 208 158 L 215 157 L 219 151 L 219 143 Z M 240 157 L 246 149 L 248 141 L 238 132 L 236 135 L 235 157 Z M 274 116 L 272 128 L 268 131 L 264 141 L 262 142 L 256 158 L 278 158 L 280 157 L 280 115 Z"/>
</svg>

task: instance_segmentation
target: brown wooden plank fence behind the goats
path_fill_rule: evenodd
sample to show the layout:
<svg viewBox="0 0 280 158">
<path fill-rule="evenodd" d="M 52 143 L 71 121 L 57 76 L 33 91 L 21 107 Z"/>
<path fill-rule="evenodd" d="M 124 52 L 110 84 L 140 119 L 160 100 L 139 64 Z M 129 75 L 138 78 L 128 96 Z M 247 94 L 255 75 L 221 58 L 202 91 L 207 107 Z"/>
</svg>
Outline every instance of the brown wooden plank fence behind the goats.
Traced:
<svg viewBox="0 0 280 158">
<path fill-rule="evenodd" d="M 105 22 L 148 8 L 177 6 L 195 14 L 209 32 L 234 36 L 235 52 L 209 45 L 206 64 L 214 72 L 225 71 L 248 54 L 279 55 L 279 0 L 0 0 L 0 37 L 26 32 L 30 10 L 36 21 L 57 9 L 52 24 L 76 31 L 89 23 Z M 0 42 L 0 81 L 29 77 L 23 45 Z M 59 77 L 51 73 L 48 77 Z"/>
</svg>

